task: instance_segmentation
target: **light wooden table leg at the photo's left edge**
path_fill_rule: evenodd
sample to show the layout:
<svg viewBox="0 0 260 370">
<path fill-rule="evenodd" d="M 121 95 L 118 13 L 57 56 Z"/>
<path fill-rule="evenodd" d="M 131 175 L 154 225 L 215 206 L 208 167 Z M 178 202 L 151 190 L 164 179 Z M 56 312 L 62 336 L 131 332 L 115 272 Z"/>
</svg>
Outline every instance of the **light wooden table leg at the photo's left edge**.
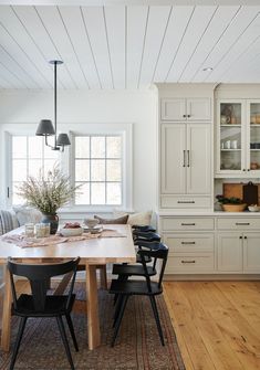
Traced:
<svg viewBox="0 0 260 370">
<path fill-rule="evenodd" d="M 11 282 L 8 268 L 4 268 L 4 296 L 2 305 L 2 336 L 1 348 L 3 351 L 10 349 L 10 330 L 11 330 Z"/>
</svg>

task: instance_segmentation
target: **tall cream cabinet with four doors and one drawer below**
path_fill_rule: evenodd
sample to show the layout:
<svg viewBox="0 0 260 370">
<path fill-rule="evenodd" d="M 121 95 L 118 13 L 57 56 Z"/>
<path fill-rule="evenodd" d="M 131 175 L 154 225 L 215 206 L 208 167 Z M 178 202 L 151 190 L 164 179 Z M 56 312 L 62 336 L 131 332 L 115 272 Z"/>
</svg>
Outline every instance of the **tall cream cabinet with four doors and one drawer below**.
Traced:
<svg viewBox="0 0 260 370">
<path fill-rule="evenodd" d="M 210 209 L 214 88 L 159 87 L 159 208 Z"/>
</svg>

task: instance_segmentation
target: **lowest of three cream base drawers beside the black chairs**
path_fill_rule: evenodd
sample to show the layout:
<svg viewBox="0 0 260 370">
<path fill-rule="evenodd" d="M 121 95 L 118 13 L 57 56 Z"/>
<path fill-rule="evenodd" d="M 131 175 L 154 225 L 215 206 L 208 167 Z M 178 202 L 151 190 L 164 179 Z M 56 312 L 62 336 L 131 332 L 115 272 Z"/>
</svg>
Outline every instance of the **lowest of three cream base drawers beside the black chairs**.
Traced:
<svg viewBox="0 0 260 370">
<path fill-rule="evenodd" d="M 214 254 L 200 256 L 175 255 L 169 256 L 166 265 L 166 274 L 210 273 L 214 271 Z"/>
</svg>

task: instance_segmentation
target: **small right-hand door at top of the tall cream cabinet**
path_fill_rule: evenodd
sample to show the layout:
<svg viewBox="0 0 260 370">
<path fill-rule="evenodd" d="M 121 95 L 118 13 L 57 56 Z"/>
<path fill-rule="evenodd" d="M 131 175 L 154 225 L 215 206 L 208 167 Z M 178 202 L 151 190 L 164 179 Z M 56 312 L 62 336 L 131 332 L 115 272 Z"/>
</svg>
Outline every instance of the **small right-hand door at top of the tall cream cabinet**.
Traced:
<svg viewBox="0 0 260 370">
<path fill-rule="evenodd" d="M 210 98 L 188 98 L 186 102 L 187 120 L 210 120 Z"/>
</svg>

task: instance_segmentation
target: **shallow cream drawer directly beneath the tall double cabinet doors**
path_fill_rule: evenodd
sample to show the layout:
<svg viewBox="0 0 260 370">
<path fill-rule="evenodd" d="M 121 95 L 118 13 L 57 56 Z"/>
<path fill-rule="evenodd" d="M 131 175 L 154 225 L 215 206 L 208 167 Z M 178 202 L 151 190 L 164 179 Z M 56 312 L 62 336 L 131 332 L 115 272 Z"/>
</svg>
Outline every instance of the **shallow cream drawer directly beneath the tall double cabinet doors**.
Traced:
<svg viewBox="0 0 260 370">
<path fill-rule="evenodd" d="M 160 195 L 160 207 L 163 209 L 210 208 L 210 198 L 209 197 Z"/>
</svg>

